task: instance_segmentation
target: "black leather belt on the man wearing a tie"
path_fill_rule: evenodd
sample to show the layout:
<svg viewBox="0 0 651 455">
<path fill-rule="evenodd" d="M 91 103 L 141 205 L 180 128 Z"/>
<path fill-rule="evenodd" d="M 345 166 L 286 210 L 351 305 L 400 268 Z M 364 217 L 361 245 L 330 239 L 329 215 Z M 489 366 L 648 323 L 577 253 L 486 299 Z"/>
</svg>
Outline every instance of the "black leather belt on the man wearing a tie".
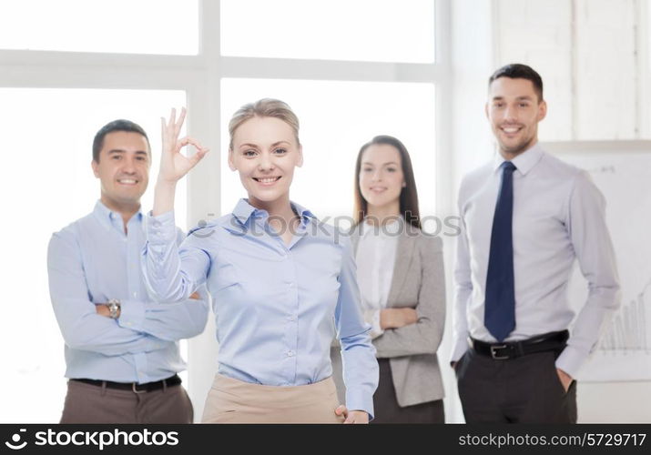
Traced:
<svg viewBox="0 0 651 455">
<path fill-rule="evenodd" d="M 543 335 L 520 341 L 486 343 L 485 341 L 469 338 L 468 342 L 477 354 L 495 360 L 507 360 L 547 350 L 557 350 L 560 352 L 565 348 L 565 342 L 569 337 L 570 333 L 567 330 L 562 330 L 560 332 L 545 333 Z"/>
</svg>

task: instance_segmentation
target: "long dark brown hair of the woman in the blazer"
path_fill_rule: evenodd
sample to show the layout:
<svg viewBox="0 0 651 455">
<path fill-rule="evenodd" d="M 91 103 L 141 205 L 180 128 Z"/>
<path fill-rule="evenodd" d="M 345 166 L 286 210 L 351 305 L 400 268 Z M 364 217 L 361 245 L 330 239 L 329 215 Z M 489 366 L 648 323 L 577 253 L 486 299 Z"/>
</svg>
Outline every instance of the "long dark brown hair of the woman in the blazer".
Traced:
<svg viewBox="0 0 651 455">
<path fill-rule="evenodd" d="M 405 221 L 410 223 L 413 227 L 421 228 L 421 214 L 418 209 L 418 191 L 416 190 L 416 180 L 413 177 L 412 158 L 409 157 L 407 147 L 404 147 L 401 141 L 392 136 L 375 136 L 370 142 L 367 142 L 360 148 L 360 153 L 357 155 L 357 164 L 355 165 L 355 206 L 353 208 L 352 218 L 355 226 L 361 223 L 366 217 L 368 212 L 368 202 L 361 196 L 360 189 L 360 171 L 361 171 L 361 156 L 364 151 L 373 145 L 386 144 L 393 146 L 398 150 L 402 162 L 402 175 L 404 177 L 405 186 L 402 187 L 400 193 L 400 213 Z"/>
</svg>

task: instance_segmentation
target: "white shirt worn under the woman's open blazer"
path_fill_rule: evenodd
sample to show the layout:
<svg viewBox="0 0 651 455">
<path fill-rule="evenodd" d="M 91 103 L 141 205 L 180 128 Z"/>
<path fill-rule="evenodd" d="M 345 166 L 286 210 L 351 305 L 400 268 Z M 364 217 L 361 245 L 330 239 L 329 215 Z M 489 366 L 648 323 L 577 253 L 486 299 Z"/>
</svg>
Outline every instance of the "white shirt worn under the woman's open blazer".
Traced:
<svg viewBox="0 0 651 455">
<path fill-rule="evenodd" d="M 380 311 L 387 306 L 393 278 L 395 253 L 401 223 L 394 220 L 381 227 L 363 223 L 357 246 L 357 282 L 364 320 L 371 324 L 371 338 L 379 337 Z"/>
</svg>

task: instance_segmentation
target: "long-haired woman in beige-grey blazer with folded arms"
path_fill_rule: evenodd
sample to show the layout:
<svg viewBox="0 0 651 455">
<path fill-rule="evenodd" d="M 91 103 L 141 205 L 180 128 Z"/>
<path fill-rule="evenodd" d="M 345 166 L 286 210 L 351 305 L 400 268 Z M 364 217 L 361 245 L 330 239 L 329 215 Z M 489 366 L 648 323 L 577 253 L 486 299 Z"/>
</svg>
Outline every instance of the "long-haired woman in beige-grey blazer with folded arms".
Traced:
<svg viewBox="0 0 651 455">
<path fill-rule="evenodd" d="M 354 219 L 361 306 L 380 364 L 373 422 L 443 423 L 436 357 L 445 320 L 442 241 L 421 230 L 412 161 L 395 137 L 361 147 Z M 338 350 L 331 358 L 343 399 Z"/>
</svg>

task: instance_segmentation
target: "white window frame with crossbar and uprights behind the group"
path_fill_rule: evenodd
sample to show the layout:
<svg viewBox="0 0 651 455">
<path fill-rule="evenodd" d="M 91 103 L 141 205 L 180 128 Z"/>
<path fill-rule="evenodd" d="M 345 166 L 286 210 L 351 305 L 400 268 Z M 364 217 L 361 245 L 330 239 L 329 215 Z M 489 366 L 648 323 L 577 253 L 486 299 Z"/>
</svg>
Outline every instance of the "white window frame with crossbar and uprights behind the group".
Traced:
<svg viewBox="0 0 651 455">
<path fill-rule="evenodd" d="M 199 0 L 197 56 L 0 49 L 0 87 L 186 91 L 190 112 L 188 134 L 201 138 L 215 150 L 206 159 L 209 165 L 198 167 L 188 177 L 187 221 L 188 226 L 193 226 L 200 219 L 218 215 L 221 208 L 219 148 L 226 139 L 220 136 L 219 126 L 227 120 L 220 117 L 222 77 L 432 83 L 436 86 L 436 207 L 440 214 L 450 214 L 454 199 L 453 173 L 450 172 L 451 5 L 450 0 L 432 1 L 436 2 L 436 57 L 432 64 L 221 56 L 220 2 Z M 184 32 L 179 27 L 170 33 Z M 413 121 L 418 122 L 418 118 Z M 214 371 L 214 365 L 207 365 L 205 361 L 207 349 L 212 349 L 210 345 L 214 344 L 214 333 L 213 322 L 210 322 L 204 334 L 189 343 L 188 390 L 198 419 Z"/>
</svg>

